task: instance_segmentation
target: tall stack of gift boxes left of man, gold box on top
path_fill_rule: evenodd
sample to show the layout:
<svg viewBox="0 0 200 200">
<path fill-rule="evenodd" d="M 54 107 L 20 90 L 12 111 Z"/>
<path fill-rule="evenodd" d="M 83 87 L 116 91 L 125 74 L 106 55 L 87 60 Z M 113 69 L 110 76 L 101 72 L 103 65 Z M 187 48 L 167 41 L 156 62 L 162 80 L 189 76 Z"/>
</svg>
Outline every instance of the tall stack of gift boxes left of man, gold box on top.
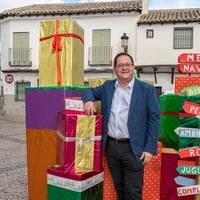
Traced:
<svg viewBox="0 0 200 200">
<path fill-rule="evenodd" d="M 71 18 L 41 21 L 39 87 L 26 89 L 30 200 L 101 199 L 102 116 L 65 110 L 83 85 L 83 28 Z"/>
</svg>

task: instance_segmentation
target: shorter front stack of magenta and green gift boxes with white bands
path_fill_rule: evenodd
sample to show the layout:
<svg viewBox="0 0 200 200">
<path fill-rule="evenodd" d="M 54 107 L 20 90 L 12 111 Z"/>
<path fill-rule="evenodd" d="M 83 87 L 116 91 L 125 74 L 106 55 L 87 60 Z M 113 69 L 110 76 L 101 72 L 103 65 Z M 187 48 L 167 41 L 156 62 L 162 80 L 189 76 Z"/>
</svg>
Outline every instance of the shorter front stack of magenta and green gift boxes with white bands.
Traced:
<svg viewBox="0 0 200 200">
<path fill-rule="evenodd" d="M 102 115 L 86 116 L 80 98 L 58 113 L 57 165 L 47 169 L 48 200 L 103 199 Z"/>
</svg>

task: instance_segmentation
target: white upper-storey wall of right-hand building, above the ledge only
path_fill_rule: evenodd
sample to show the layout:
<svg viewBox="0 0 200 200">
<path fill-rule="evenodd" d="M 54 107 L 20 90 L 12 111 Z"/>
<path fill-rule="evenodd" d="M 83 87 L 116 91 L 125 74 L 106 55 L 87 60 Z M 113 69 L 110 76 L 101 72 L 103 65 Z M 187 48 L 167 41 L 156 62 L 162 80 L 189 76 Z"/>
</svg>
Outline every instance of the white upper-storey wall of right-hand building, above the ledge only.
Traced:
<svg viewBox="0 0 200 200">
<path fill-rule="evenodd" d="M 174 27 L 194 27 L 193 49 L 173 49 Z M 153 29 L 154 37 L 146 38 L 146 30 Z M 198 23 L 152 24 L 140 25 L 137 28 L 137 60 L 138 65 L 178 64 L 181 53 L 200 52 L 200 26 Z"/>
</svg>

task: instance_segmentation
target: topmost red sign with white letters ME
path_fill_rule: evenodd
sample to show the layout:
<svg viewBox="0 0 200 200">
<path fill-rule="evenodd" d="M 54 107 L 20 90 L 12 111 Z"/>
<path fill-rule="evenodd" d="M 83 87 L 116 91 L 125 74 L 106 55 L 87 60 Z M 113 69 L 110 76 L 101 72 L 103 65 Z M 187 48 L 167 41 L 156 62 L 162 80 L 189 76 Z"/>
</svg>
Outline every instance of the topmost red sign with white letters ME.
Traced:
<svg viewBox="0 0 200 200">
<path fill-rule="evenodd" d="M 178 57 L 179 63 L 200 63 L 200 54 L 198 53 L 183 53 Z"/>
</svg>

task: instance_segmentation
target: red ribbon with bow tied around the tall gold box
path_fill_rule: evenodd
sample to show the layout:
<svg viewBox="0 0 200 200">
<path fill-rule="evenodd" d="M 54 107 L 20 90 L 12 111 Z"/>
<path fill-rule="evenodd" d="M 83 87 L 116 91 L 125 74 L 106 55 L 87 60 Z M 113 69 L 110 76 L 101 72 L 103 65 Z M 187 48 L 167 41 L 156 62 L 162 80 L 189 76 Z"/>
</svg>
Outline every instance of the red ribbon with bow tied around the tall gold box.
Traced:
<svg viewBox="0 0 200 200">
<path fill-rule="evenodd" d="M 75 33 L 59 33 L 59 30 L 58 30 L 59 29 L 59 20 L 55 21 L 55 26 L 56 26 L 56 33 L 54 35 L 49 35 L 49 36 L 40 38 L 40 42 L 53 38 L 51 53 L 56 53 L 57 84 L 58 84 L 58 86 L 60 86 L 62 83 L 60 55 L 59 55 L 59 51 L 62 51 L 61 38 L 62 37 L 73 37 L 73 38 L 79 39 L 82 43 L 84 43 L 84 41 L 79 35 L 77 35 Z"/>
</svg>

